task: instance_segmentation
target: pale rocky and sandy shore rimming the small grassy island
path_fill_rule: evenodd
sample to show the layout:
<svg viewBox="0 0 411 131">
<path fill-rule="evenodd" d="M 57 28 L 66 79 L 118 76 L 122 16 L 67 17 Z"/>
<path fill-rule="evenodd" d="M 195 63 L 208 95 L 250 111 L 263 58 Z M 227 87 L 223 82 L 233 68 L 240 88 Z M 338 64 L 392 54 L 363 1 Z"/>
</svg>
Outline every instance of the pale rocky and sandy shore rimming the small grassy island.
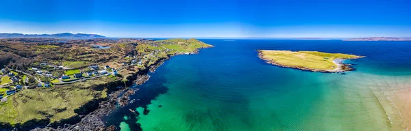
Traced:
<svg viewBox="0 0 411 131">
<path fill-rule="evenodd" d="M 277 63 L 271 59 L 266 59 L 264 58 L 264 55 L 262 55 L 262 52 L 260 50 L 258 50 L 258 57 L 260 57 L 260 59 L 263 59 L 264 61 L 266 61 L 266 63 L 270 63 L 273 64 L 274 66 L 279 66 L 282 68 L 294 68 L 297 70 L 306 70 L 306 71 L 310 71 L 310 72 L 323 72 L 323 73 L 342 73 L 342 72 L 346 72 L 346 71 L 350 71 L 350 70 L 355 70 L 354 68 L 351 68 L 351 64 L 346 64 L 343 63 L 343 61 L 345 59 L 334 59 L 334 63 L 337 65 L 337 68 L 334 70 L 319 70 L 319 69 L 312 69 L 312 68 L 306 68 L 306 67 L 299 67 L 299 66 L 286 66 L 286 65 L 282 65 L 280 63 Z M 364 56 L 358 56 L 356 58 L 353 59 L 360 59 Z"/>
</svg>

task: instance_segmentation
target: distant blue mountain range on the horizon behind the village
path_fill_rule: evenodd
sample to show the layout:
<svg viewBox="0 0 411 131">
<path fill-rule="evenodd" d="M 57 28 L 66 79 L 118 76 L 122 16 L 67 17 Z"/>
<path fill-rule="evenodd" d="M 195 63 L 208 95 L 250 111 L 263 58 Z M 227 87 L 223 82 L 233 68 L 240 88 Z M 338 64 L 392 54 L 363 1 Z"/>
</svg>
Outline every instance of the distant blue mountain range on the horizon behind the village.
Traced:
<svg viewBox="0 0 411 131">
<path fill-rule="evenodd" d="M 0 33 L 0 38 L 69 38 L 69 39 L 84 39 L 84 38 L 107 38 L 103 35 L 87 34 L 87 33 L 55 33 L 55 34 L 23 34 L 23 33 Z"/>
</svg>

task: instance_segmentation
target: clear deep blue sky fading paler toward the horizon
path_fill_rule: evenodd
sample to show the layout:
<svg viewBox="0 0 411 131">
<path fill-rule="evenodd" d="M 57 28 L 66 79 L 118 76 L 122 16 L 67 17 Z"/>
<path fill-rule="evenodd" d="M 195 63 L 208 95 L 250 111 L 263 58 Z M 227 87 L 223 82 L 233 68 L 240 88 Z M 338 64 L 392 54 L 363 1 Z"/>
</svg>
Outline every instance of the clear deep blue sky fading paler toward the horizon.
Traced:
<svg viewBox="0 0 411 131">
<path fill-rule="evenodd" d="M 411 36 L 410 0 L 2 0 L 0 32 L 136 38 Z"/>
</svg>

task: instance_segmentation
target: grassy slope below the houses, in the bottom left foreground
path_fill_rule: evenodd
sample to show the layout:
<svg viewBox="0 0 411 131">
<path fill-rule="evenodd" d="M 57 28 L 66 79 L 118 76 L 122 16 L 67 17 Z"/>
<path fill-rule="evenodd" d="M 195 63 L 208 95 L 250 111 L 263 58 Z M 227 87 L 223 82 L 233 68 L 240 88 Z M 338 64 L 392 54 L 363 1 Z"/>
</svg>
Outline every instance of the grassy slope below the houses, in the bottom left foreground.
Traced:
<svg viewBox="0 0 411 131">
<path fill-rule="evenodd" d="M 23 89 L 8 97 L 8 102 L 0 103 L 0 121 L 14 125 L 32 119 L 49 118 L 51 122 L 69 119 L 77 115 L 75 109 L 101 94 L 102 91 L 72 87 Z"/>
</svg>

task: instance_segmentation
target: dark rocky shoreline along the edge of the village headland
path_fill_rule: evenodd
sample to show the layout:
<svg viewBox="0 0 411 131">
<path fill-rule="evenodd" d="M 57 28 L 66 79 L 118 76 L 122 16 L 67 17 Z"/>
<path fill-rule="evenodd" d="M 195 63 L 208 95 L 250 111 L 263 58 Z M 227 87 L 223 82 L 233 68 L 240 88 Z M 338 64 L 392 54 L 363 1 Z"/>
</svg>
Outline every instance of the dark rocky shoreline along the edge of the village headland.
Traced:
<svg viewBox="0 0 411 131">
<path fill-rule="evenodd" d="M 210 47 L 205 47 L 205 48 L 211 48 L 214 46 Z M 200 49 L 200 48 L 199 48 Z M 199 49 L 195 50 L 194 53 L 199 53 Z M 184 55 L 184 53 L 178 53 L 175 55 Z M 153 65 L 149 66 L 149 68 L 145 70 L 139 70 L 132 76 L 127 77 L 127 80 L 131 81 L 132 83 L 135 83 L 136 85 L 141 85 L 145 83 L 146 81 L 149 80 L 150 76 L 148 75 L 149 72 L 155 72 L 155 70 L 164 63 L 167 59 L 170 59 L 171 57 L 175 55 L 169 55 L 166 58 L 159 59 Z M 130 84 L 127 84 L 127 86 L 130 86 Z M 81 131 L 81 130 L 119 130 L 115 126 L 107 126 L 105 125 L 102 117 L 110 114 L 112 111 L 114 111 L 116 108 L 118 108 L 117 105 L 121 107 L 126 106 L 127 104 L 131 104 L 133 102 L 136 102 L 136 100 L 129 100 L 129 96 L 133 95 L 136 93 L 138 89 L 131 89 L 129 87 L 121 88 L 115 91 L 112 91 L 111 93 L 108 94 L 109 98 L 108 100 L 103 100 L 99 102 L 99 106 L 95 111 L 92 111 L 91 113 L 88 113 L 87 115 L 82 115 L 81 120 L 77 123 L 74 124 L 69 124 L 69 123 L 64 123 L 60 126 L 51 126 L 48 125 L 44 128 L 34 128 L 33 131 L 46 131 L 46 130 L 64 130 L 64 131 L 69 131 L 69 130 L 75 130 L 75 131 Z"/>
</svg>

